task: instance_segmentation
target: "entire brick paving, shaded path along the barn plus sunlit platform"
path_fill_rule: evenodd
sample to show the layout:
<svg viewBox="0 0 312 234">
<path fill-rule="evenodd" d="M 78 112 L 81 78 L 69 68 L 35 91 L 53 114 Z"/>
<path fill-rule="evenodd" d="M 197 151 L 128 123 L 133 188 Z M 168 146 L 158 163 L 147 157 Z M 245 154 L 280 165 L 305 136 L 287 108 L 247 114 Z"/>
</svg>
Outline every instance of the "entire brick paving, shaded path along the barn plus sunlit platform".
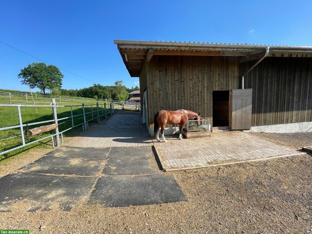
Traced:
<svg viewBox="0 0 312 234">
<path fill-rule="evenodd" d="M 90 129 L 73 137 L 65 144 L 77 147 L 143 146 L 155 145 L 158 157 L 167 170 L 207 167 L 214 164 L 249 161 L 281 155 L 298 154 L 294 149 L 252 136 L 231 131 L 212 133 L 210 138 L 168 142 L 152 140 L 139 113 L 116 112 L 100 124 L 90 124 Z"/>
</svg>

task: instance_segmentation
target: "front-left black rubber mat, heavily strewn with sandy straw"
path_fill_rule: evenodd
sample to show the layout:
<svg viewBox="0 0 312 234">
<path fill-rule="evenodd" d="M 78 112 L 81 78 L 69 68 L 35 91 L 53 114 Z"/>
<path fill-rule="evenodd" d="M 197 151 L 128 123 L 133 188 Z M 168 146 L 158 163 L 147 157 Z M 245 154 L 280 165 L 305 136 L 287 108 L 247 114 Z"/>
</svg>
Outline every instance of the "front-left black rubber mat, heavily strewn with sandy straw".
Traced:
<svg viewBox="0 0 312 234">
<path fill-rule="evenodd" d="M 71 208 L 88 195 L 94 177 L 68 177 L 34 173 L 0 178 L 0 212 Z"/>
</svg>

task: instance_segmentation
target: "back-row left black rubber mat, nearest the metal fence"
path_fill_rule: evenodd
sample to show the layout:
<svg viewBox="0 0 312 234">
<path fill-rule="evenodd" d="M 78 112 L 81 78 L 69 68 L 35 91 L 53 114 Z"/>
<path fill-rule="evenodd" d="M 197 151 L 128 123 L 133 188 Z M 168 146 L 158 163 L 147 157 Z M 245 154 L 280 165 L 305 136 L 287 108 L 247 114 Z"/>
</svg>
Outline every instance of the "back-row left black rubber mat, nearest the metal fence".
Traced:
<svg viewBox="0 0 312 234">
<path fill-rule="evenodd" d="M 48 156 L 57 156 L 65 158 L 90 158 L 90 159 L 105 159 L 110 147 L 107 148 L 82 148 L 73 146 L 61 146 L 51 152 Z"/>
</svg>

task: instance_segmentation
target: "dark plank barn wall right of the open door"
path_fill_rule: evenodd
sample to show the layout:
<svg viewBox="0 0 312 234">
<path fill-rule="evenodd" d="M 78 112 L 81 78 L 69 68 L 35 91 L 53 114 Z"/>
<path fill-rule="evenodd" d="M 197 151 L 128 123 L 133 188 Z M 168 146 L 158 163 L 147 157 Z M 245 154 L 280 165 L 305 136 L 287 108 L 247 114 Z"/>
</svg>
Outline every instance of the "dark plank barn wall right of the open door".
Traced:
<svg viewBox="0 0 312 234">
<path fill-rule="evenodd" d="M 239 64 L 240 77 L 255 61 Z M 244 78 L 252 126 L 312 121 L 312 58 L 267 57 Z"/>
</svg>

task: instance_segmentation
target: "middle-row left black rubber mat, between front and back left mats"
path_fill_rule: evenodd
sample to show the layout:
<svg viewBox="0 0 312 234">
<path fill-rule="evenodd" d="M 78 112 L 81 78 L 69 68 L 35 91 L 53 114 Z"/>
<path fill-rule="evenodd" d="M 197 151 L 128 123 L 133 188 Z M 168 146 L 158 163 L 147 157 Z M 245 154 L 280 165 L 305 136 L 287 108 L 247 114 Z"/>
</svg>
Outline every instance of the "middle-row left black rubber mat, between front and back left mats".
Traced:
<svg viewBox="0 0 312 234">
<path fill-rule="evenodd" d="M 70 159 L 53 156 L 43 156 L 36 161 L 20 168 L 23 172 L 92 176 L 100 172 L 103 160 L 98 159 Z"/>
</svg>

